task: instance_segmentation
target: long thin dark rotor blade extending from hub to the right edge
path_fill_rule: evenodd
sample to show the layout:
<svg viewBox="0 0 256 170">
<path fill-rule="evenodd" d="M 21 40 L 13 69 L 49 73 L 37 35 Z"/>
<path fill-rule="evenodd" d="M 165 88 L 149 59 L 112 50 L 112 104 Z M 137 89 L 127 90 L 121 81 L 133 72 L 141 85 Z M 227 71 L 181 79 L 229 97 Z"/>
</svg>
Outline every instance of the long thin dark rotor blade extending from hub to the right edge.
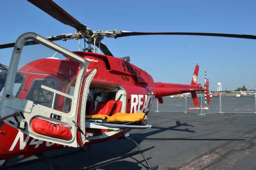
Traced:
<svg viewBox="0 0 256 170">
<path fill-rule="evenodd" d="M 146 35 L 188 35 L 188 36 L 214 36 L 214 37 L 230 37 L 230 38 L 246 38 L 256 40 L 256 36 L 244 35 L 244 34 L 218 34 L 218 33 L 200 33 L 200 32 L 127 32 L 127 31 L 117 31 L 116 37 L 126 37 L 126 36 L 146 36 Z"/>
</svg>

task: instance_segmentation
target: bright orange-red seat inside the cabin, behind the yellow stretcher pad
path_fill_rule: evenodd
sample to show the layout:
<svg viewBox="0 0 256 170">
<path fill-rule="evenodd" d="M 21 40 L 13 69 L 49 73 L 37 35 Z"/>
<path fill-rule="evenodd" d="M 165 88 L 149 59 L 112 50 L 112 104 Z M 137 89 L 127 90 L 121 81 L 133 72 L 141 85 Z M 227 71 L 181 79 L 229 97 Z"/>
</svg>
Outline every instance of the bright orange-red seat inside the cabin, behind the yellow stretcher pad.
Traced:
<svg viewBox="0 0 256 170">
<path fill-rule="evenodd" d="M 122 109 L 122 101 L 110 100 L 108 101 L 108 103 L 106 103 L 106 105 L 104 105 L 104 107 L 97 114 L 109 115 L 115 103 L 116 103 L 116 109 L 114 110 L 112 115 L 116 113 L 120 113 Z"/>
</svg>

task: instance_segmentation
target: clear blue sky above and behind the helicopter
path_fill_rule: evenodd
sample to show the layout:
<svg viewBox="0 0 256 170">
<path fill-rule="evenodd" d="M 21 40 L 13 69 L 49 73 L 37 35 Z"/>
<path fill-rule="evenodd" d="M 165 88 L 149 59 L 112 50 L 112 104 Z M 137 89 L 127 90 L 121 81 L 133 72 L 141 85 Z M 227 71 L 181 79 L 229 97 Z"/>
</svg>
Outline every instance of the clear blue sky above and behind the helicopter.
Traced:
<svg viewBox="0 0 256 170">
<path fill-rule="evenodd" d="M 92 30 L 134 32 L 212 32 L 256 35 L 255 0 L 54 0 Z M 27 1 L 1 1 L 0 44 L 15 42 L 24 32 L 48 37 L 75 33 Z M 256 40 L 201 36 L 131 36 L 105 38 L 116 57 L 130 56 L 131 63 L 147 69 L 156 82 L 189 84 L 196 63 L 198 83 L 204 83 L 204 69 L 210 90 L 234 90 L 245 85 L 254 89 Z M 57 42 L 78 51 L 78 42 Z M 0 50 L 1 63 L 9 65 L 12 49 Z M 49 56 L 46 56 L 49 57 Z"/>
</svg>

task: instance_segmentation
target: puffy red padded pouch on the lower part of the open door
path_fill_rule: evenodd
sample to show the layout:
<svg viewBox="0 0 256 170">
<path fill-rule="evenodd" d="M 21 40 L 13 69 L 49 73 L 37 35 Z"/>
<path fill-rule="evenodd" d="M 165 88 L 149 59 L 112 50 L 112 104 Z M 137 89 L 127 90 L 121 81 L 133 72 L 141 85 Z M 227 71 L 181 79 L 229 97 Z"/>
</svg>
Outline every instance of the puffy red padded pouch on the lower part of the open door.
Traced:
<svg viewBox="0 0 256 170">
<path fill-rule="evenodd" d="M 54 124 L 44 119 L 34 118 L 31 122 L 34 132 L 53 138 L 68 140 L 72 137 L 70 127 L 62 124 Z"/>
</svg>

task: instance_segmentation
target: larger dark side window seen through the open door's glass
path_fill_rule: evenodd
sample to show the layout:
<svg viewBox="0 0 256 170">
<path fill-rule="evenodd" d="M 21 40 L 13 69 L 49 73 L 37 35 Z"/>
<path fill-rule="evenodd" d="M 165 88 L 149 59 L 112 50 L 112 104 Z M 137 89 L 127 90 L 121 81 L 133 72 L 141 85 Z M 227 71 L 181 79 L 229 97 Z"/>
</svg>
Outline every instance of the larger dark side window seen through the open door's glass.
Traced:
<svg viewBox="0 0 256 170">
<path fill-rule="evenodd" d="M 46 107 L 52 107 L 54 93 L 46 89 L 42 89 L 41 85 L 57 89 L 58 84 L 52 79 L 35 79 L 26 96 L 27 100 L 33 101 L 35 104 L 40 104 Z"/>
</svg>

